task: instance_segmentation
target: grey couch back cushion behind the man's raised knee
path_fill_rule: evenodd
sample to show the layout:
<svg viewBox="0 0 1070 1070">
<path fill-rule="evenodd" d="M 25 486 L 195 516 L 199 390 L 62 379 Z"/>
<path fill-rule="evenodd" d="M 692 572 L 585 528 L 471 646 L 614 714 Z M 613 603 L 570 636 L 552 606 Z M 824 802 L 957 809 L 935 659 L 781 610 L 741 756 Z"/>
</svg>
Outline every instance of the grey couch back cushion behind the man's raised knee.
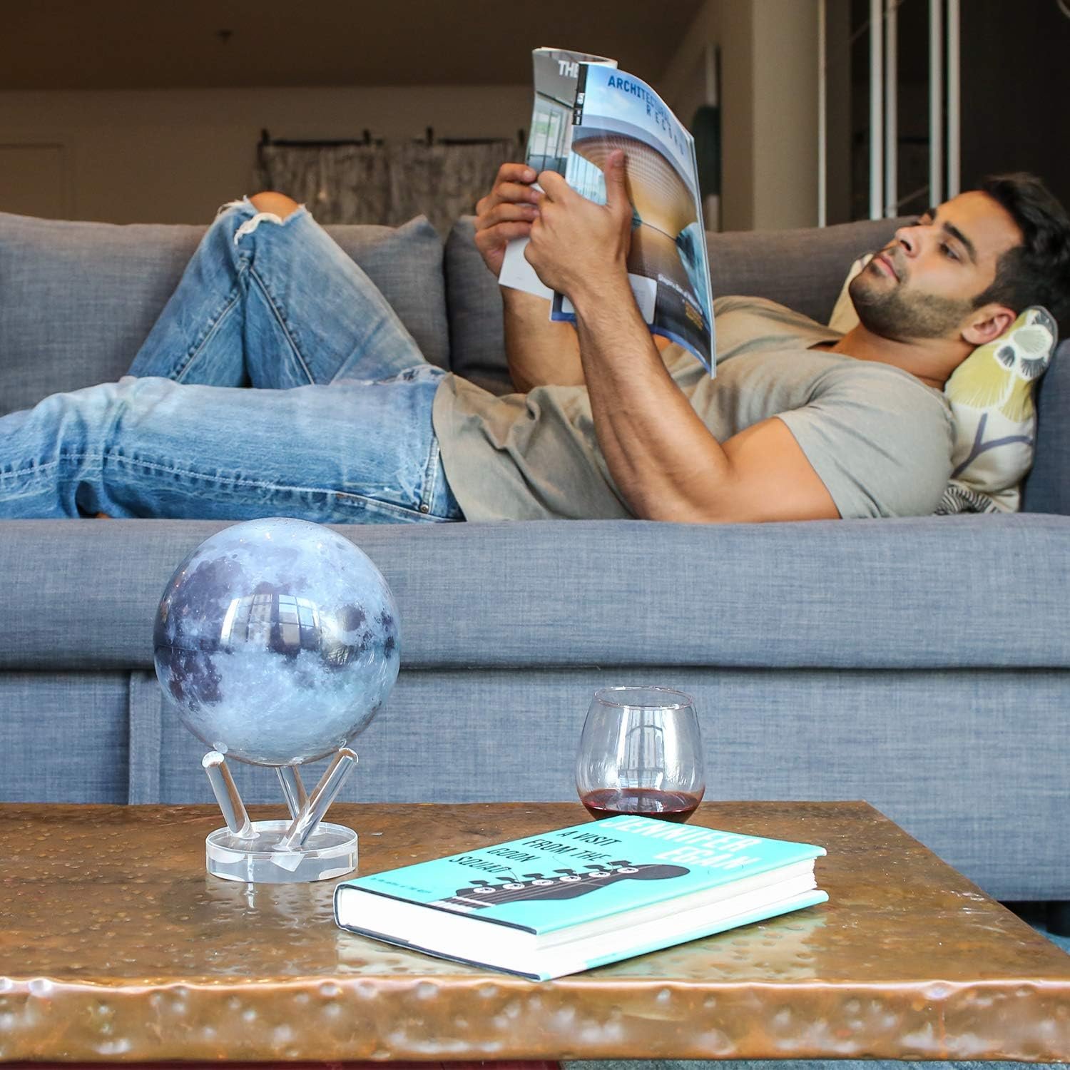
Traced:
<svg viewBox="0 0 1070 1070">
<path fill-rule="evenodd" d="M 445 367 L 442 242 L 423 216 L 327 232 L 367 272 L 424 355 Z M 204 227 L 0 213 L 0 414 L 124 374 Z"/>
</svg>

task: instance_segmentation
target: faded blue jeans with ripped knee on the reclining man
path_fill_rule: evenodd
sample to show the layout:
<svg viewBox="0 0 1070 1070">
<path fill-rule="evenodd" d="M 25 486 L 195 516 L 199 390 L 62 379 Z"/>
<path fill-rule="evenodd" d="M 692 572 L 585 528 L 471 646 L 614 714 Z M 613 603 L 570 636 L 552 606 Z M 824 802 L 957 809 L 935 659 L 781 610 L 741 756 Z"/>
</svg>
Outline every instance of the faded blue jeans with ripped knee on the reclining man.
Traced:
<svg viewBox="0 0 1070 1070">
<path fill-rule="evenodd" d="M 129 374 L 0 417 L 0 517 L 463 520 L 444 372 L 304 208 L 277 220 L 226 205 Z"/>
</svg>

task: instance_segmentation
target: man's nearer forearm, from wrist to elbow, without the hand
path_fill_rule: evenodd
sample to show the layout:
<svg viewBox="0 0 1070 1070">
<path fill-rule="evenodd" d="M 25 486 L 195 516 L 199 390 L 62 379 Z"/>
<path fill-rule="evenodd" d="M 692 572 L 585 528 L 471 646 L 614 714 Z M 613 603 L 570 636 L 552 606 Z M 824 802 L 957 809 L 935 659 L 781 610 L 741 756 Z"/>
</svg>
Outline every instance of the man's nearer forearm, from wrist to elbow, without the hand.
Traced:
<svg viewBox="0 0 1070 1070">
<path fill-rule="evenodd" d="M 727 500 L 731 463 L 672 381 L 627 278 L 576 294 L 574 303 L 598 444 L 632 511 L 649 520 L 718 519 L 716 488 Z"/>
</svg>

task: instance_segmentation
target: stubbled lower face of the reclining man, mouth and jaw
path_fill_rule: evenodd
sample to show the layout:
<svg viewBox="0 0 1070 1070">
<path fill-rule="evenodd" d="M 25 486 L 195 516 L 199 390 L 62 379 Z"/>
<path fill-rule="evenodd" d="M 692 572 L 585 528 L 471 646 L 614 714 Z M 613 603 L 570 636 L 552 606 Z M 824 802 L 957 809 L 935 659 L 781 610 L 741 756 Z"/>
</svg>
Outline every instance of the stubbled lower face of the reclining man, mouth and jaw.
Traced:
<svg viewBox="0 0 1070 1070">
<path fill-rule="evenodd" d="M 898 245 L 877 253 L 851 280 L 847 292 L 862 326 L 892 341 L 952 337 L 974 307 L 968 297 L 945 297 L 912 287 Z"/>
</svg>

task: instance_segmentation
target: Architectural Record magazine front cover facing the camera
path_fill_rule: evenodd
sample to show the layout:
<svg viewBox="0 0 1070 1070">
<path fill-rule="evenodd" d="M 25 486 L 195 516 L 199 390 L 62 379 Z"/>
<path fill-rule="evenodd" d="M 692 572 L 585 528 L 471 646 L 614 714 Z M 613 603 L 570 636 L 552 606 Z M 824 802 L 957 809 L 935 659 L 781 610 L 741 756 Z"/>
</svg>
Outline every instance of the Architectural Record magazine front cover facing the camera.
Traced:
<svg viewBox="0 0 1070 1070">
<path fill-rule="evenodd" d="M 577 83 L 565 178 L 606 203 L 602 167 L 623 149 L 632 202 L 628 279 L 652 334 L 693 353 L 714 373 L 713 295 L 706 259 L 694 139 L 639 78 L 583 64 Z M 554 294 L 551 319 L 575 322 Z"/>
</svg>

